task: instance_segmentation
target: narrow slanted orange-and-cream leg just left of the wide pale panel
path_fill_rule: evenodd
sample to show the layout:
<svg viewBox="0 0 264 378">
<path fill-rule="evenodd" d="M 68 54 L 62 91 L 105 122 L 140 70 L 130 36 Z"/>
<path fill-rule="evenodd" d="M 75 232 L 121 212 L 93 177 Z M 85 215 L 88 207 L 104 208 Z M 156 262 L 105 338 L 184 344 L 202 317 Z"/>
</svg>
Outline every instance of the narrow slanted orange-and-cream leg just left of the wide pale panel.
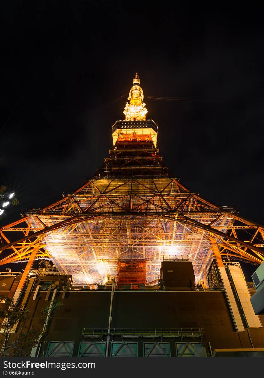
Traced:
<svg viewBox="0 0 264 378">
<path fill-rule="evenodd" d="M 212 245 L 214 256 L 216 257 L 216 263 L 217 263 L 217 266 L 221 275 L 221 279 L 225 288 L 225 293 L 227 294 L 227 300 L 228 300 L 228 304 L 231 310 L 231 314 L 233 316 L 236 331 L 245 332 L 245 328 L 244 328 L 241 316 L 239 314 L 239 310 L 238 310 L 236 300 L 235 300 L 235 297 L 234 297 L 234 294 L 233 294 L 233 291 L 232 291 L 232 288 L 231 288 L 231 285 L 227 276 L 227 272 L 225 271 L 225 267 L 223 265 L 222 257 L 220 255 L 216 239 L 211 238 L 211 237 L 209 239 Z"/>
</svg>

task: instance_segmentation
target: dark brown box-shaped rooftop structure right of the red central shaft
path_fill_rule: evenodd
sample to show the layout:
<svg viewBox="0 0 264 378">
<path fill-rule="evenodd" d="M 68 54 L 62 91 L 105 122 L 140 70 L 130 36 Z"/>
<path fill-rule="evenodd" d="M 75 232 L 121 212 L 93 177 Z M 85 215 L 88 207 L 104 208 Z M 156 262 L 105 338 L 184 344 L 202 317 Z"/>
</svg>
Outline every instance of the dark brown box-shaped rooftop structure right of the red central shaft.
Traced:
<svg viewBox="0 0 264 378">
<path fill-rule="evenodd" d="M 161 279 L 166 291 L 195 290 L 191 261 L 167 260 L 161 263 Z"/>
</svg>

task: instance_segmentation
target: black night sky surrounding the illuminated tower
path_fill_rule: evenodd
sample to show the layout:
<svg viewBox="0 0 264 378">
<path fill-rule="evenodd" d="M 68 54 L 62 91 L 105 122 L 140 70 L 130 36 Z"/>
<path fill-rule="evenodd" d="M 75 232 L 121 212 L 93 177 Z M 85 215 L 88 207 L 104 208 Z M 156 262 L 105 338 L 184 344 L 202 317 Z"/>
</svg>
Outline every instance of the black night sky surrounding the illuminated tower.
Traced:
<svg viewBox="0 0 264 378">
<path fill-rule="evenodd" d="M 42 208 L 92 177 L 135 72 L 173 176 L 264 224 L 263 28 L 258 9 L 111 2 L 2 5 L 0 185 Z M 148 99 L 170 97 L 174 101 Z"/>
</svg>

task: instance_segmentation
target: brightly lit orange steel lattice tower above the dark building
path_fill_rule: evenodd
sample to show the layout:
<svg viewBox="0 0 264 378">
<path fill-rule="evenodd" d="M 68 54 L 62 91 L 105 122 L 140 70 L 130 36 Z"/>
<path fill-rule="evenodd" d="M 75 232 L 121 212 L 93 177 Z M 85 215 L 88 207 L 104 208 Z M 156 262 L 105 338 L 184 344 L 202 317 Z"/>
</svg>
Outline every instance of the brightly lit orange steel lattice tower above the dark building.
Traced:
<svg viewBox="0 0 264 378">
<path fill-rule="evenodd" d="M 206 282 L 216 253 L 228 261 L 264 260 L 263 226 L 240 217 L 236 207 L 206 201 L 172 177 L 156 147 L 158 126 L 145 119 L 139 84 L 137 76 L 124 112 L 129 118 L 112 126 L 114 147 L 94 177 L 0 229 L 1 265 L 28 260 L 26 276 L 34 259 L 48 258 L 75 283 L 102 283 L 106 276 L 117 277 L 120 260 L 143 259 L 151 284 L 168 255 L 188 256 L 196 282 Z"/>
</svg>

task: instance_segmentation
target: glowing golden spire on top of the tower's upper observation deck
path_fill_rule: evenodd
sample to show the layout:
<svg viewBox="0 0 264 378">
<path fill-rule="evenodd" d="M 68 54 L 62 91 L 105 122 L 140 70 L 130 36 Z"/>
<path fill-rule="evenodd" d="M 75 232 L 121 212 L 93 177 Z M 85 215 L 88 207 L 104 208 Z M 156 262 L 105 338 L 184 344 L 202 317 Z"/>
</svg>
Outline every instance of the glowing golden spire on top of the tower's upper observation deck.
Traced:
<svg viewBox="0 0 264 378">
<path fill-rule="evenodd" d="M 146 119 L 146 113 L 148 111 L 145 108 L 146 104 L 143 102 L 143 99 L 143 90 L 140 86 L 139 76 L 136 72 L 133 79 L 133 85 L 129 92 L 128 102 L 123 111 L 125 121 L 144 121 Z"/>
</svg>

